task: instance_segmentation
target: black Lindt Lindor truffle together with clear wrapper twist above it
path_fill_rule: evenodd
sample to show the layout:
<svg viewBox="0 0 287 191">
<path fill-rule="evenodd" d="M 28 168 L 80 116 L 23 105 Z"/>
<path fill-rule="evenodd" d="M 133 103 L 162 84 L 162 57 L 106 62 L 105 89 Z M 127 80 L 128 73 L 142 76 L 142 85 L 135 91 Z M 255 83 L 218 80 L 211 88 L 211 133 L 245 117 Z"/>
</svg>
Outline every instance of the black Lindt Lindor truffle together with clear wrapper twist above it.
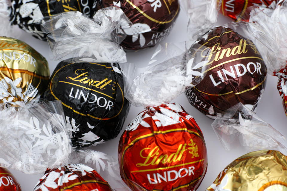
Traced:
<svg viewBox="0 0 287 191">
<path fill-rule="evenodd" d="M 129 110 L 117 64 L 126 62 L 117 31 L 128 19 L 115 7 L 97 11 L 94 20 L 74 11 L 49 18 L 42 28 L 50 33 L 49 45 L 62 62 L 51 75 L 44 98 L 62 101 L 74 147 L 115 138 Z"/>
</svg>

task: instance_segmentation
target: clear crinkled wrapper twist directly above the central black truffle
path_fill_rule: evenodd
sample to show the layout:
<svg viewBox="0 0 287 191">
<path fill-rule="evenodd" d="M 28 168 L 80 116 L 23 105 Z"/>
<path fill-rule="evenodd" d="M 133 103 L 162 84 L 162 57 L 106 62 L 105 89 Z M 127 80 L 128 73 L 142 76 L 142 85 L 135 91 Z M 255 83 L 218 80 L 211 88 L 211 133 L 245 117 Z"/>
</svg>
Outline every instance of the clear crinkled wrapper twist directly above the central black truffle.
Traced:
<svg viewBox="0 0 287 191">
<path fill-rule="evenodd" d="M 126 53 L 118 45 L 125 36 L 118 31 L 130 25 L 121 9 L 107 7 L 99 10 L 94 20 L 72 11 L 46 17 L 41 26 L 50 33 L 47 40 L 55 60 L 126 62 Z"/>
</svg>

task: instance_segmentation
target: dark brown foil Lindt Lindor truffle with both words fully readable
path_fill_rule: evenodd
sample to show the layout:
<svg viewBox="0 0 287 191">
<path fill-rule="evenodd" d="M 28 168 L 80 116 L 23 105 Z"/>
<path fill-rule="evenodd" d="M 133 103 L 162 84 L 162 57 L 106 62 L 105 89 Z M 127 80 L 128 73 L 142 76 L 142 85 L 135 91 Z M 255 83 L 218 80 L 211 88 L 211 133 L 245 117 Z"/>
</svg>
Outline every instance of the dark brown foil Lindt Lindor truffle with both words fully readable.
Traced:
<svg viewBox="0 0 287 191">
<path fill-rule="evenodd" d="M 255 110 L 267 78 L 256 46 L 224 27 L 214 28 L 206 37 L 190 49 L 190 57 L 202 46 L 210 49 L 207 55 L 201 53 L 210 68 L 198 85 L 185 92 L 189 102 L 211 118 L 239 102 Z"/>
</svg>

